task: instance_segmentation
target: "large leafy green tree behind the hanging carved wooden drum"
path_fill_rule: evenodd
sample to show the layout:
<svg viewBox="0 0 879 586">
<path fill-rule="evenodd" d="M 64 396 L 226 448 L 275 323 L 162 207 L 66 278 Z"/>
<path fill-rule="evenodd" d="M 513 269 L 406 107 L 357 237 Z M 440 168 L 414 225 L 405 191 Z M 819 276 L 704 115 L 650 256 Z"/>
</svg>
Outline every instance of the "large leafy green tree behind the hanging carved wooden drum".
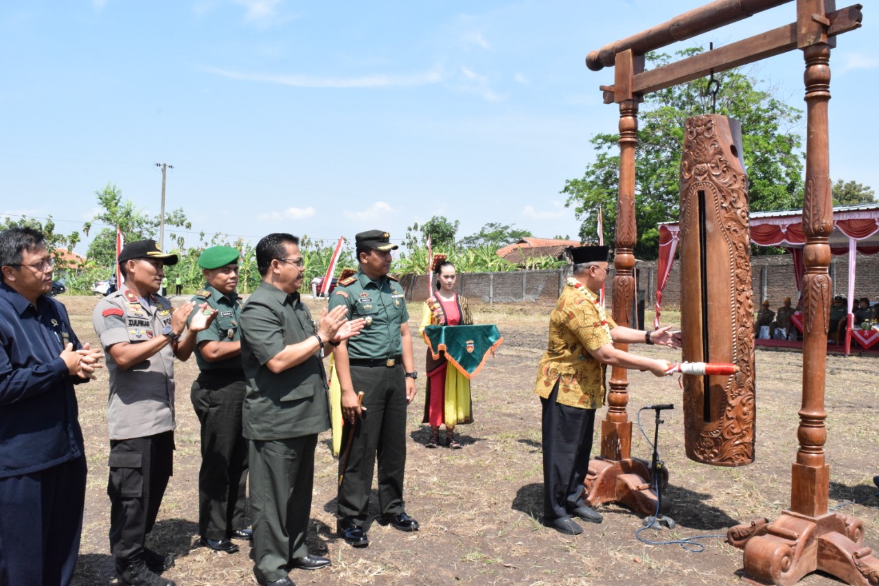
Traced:
<svg viewBox="0 0 879 586">
<path fill-rule="evenodd" d="M 703 48 L 679 51 L 689 56 Z M 671 62 L 671 56 L 647 55 L 652 65 Z M 750 209 L 794 209 L 803 205 L 803 161 L 798 155 L 802 138 L 797 132 L 802 113 L 760 90 L 760 81 L 742 70 L 717 73 L 720 90 L 716 112 L 742 125 L 742 145 L 748 172 Z M 657 223 L 676 221 L 679 209 L 680 150 L 686 118 L 711 112 L 705 80 L 680 84 L 645 96 L 638 116 L 635 209 L 639 259 L 656 259 L 659 250 Z M 602 210 L 604 238 L 614 242 L 616 200 L 620 168 L 619 135 L 598 134 L 591 142 L 596 159 L 586 165 L 582 179 L 568 179 L 561 193 L 583 220 L 580 238 L 596 241 L 596 217 Z"/>
</svg>

